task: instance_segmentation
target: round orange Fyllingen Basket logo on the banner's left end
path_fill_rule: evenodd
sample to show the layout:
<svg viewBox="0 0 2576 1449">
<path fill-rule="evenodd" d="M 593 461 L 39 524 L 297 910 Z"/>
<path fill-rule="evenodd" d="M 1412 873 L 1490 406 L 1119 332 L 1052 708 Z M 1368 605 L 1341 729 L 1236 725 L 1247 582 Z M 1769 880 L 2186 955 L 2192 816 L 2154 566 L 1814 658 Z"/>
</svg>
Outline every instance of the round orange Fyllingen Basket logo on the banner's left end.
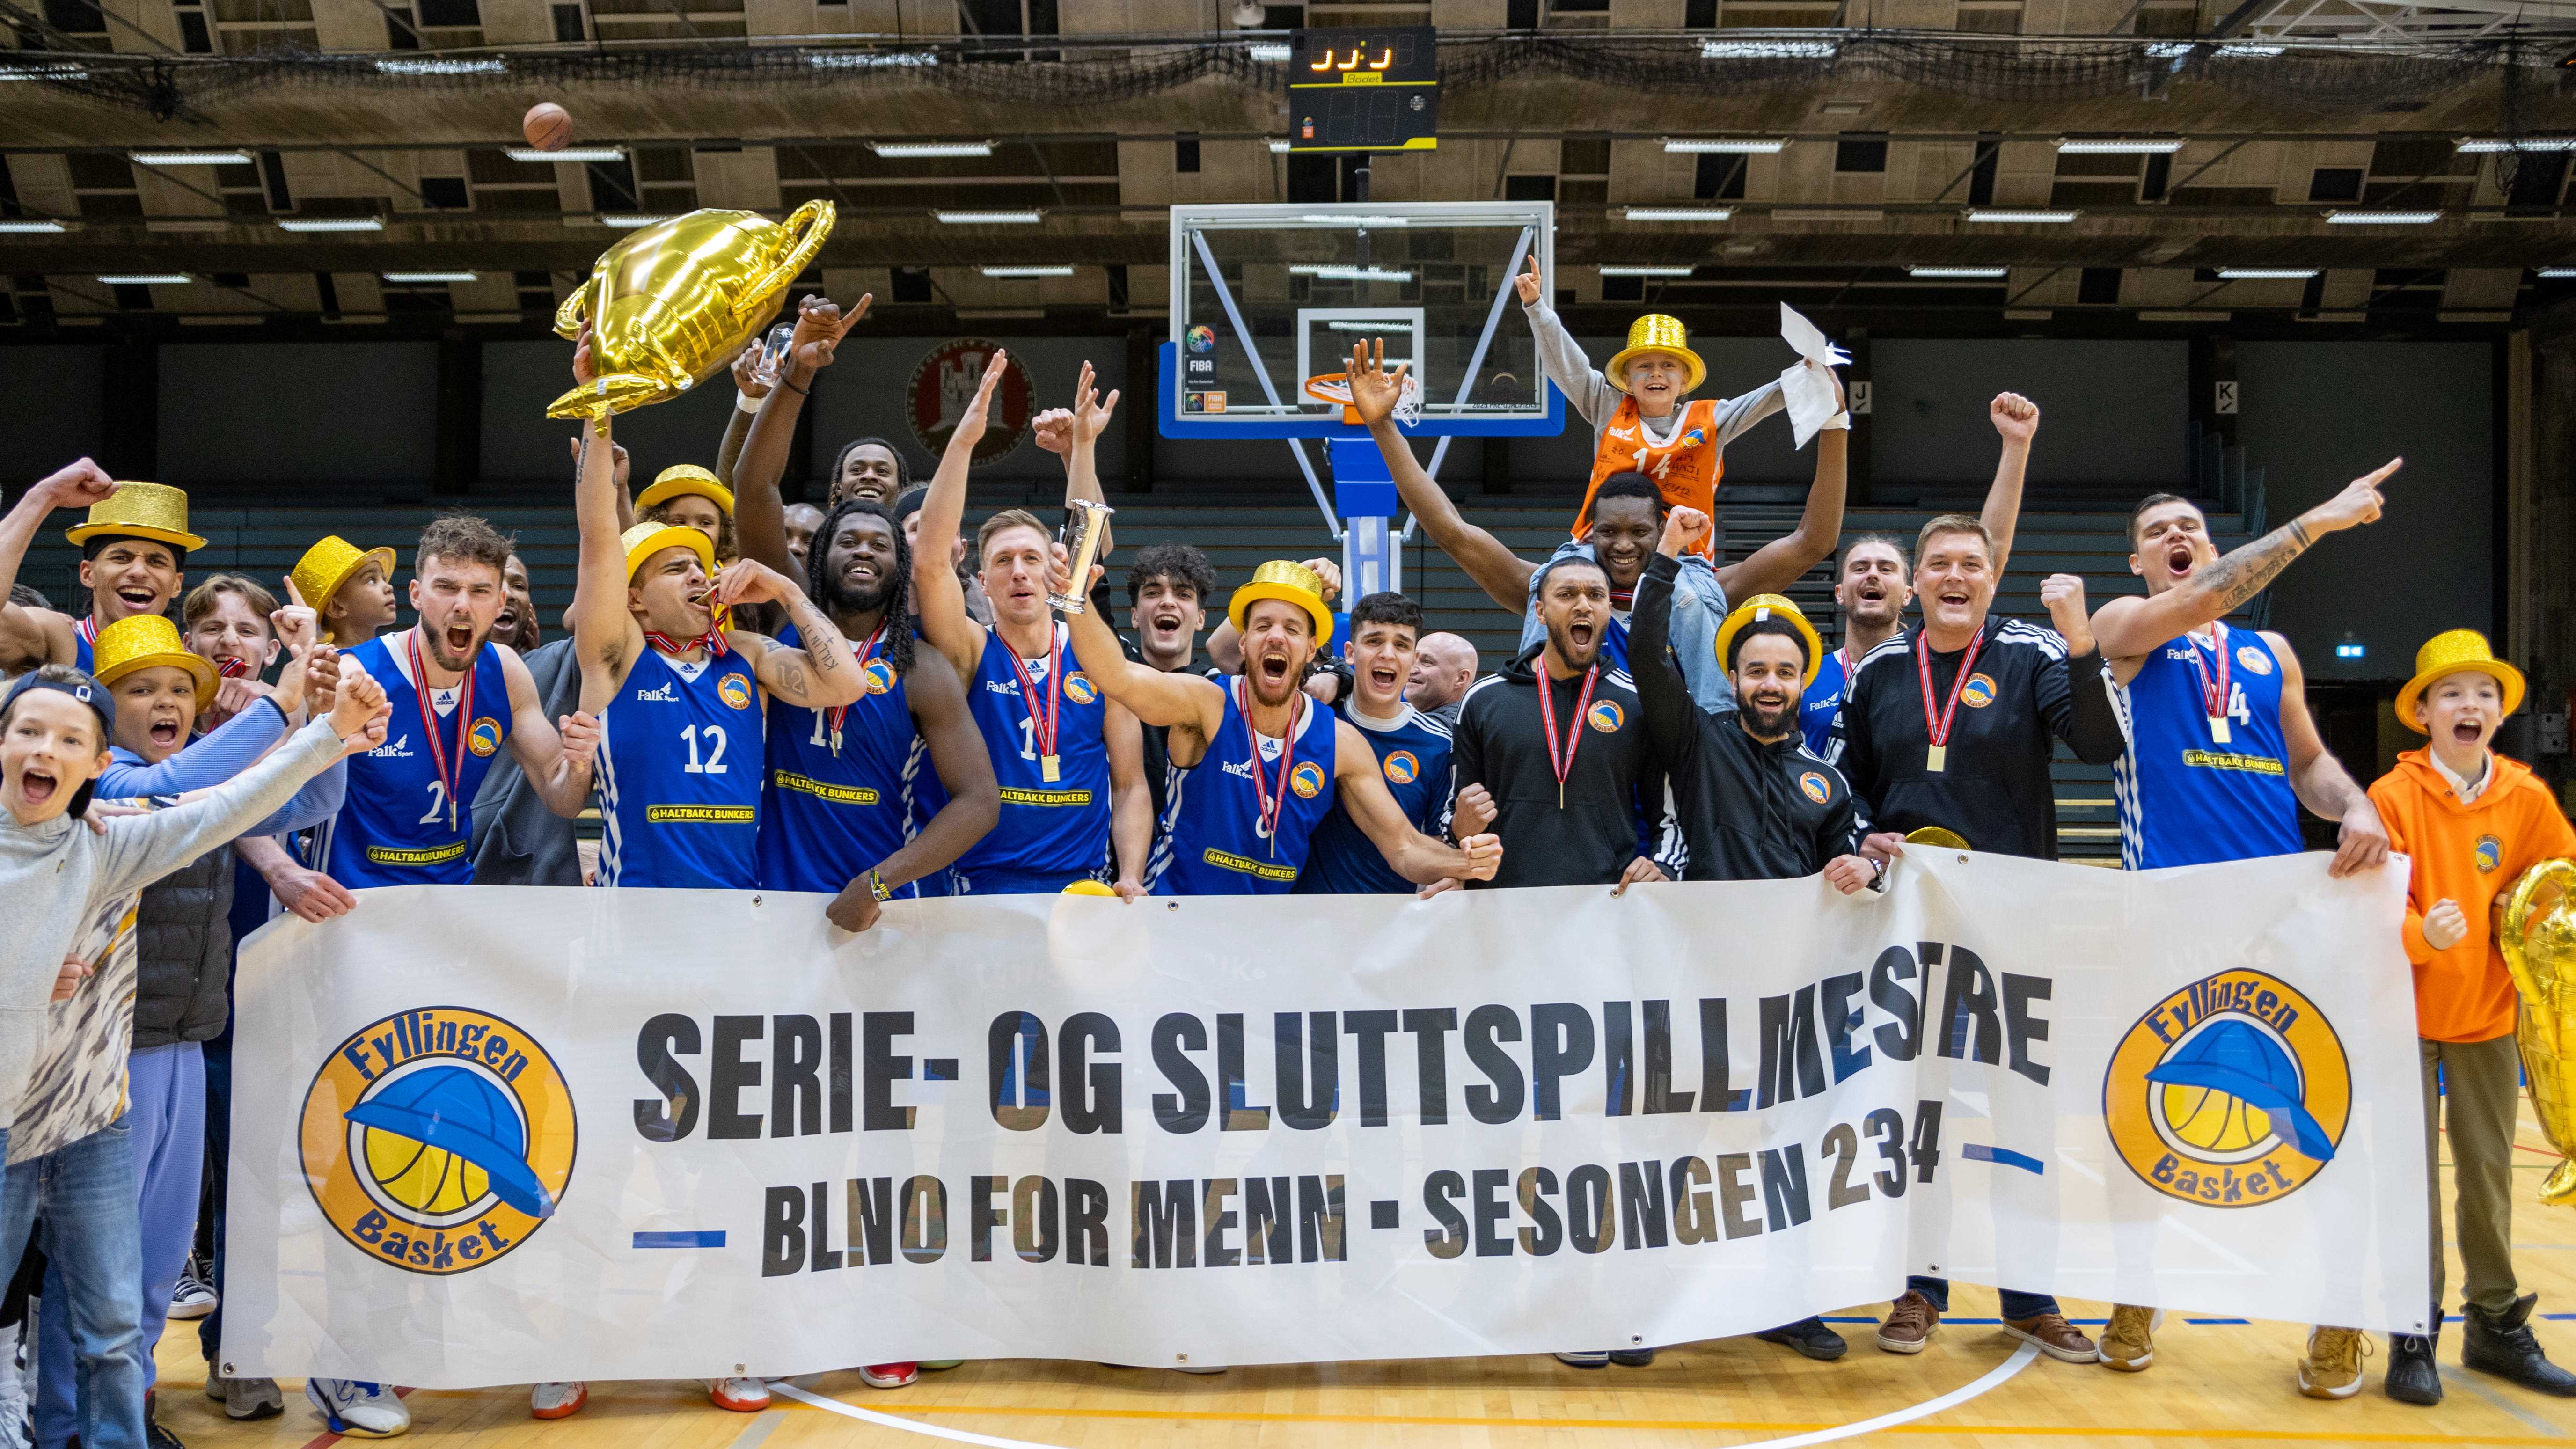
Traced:
<svg viewBox="0 0 2576 1449">
<path fill-rule="evenodd" d="M 304 1091 L 304 1183 L 361 1253 L 464 1274 L 536 1232 L 572 1181 L 564 1073 L 533 1036 L 464 1006 L 361 1026 Z"/>
</svg>

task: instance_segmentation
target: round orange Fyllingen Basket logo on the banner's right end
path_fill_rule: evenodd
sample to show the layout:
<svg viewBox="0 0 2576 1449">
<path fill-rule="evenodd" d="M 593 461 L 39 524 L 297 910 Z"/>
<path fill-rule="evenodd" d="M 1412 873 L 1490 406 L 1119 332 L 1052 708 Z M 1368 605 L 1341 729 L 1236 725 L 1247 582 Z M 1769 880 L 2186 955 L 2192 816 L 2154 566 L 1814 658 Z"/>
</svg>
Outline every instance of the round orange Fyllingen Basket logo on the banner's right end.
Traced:
<svg viewBox="0 0 2576 1449">
<path fill-rule="evenodd" d="M 2138 1181 L 2205 1207 L 2290 1196 L 2334 1160 L 2352 1065 L 2280 977 L 2236 969 L 2159 1000 L 2102 1075 L 2102 1124 Z"/>
</svg>

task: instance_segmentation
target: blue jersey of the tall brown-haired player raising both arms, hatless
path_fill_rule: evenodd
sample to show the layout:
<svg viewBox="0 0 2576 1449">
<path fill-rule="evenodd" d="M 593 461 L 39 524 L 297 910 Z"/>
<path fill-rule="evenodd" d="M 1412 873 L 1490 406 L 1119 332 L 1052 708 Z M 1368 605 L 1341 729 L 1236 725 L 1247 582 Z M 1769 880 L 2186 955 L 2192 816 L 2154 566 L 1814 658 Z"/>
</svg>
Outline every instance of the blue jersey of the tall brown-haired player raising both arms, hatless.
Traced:
<svg viewBox="0 0 2576 1449">
<path fill-rule="evenodd" d="M 1038 691 L 1038 714 L 1056 699 L 1056 779 L 1046 779 L 1038 719 L 1020 688 L 1020 673 L 1012 670 L 1015 655 L 999 629 L 984 632 L 984 657 L 966 683 L 966 706 L 974 709 L 994 781 L 1002 786 L 1002 820 L 958 856 L 961 892 L 1064 890 L 1066 882 L 1095 877 L 1108 861 L 1110 748 L 1103 727 L 1110 701 L 1077 668 L 1064 624 L 1054 629 L 1056 647 L 1036 660 L 1020 660 L 1020 668 Z M 1048 688 L 1059 660 L 1066 670 L 1061 694 Z"/>
</svg>

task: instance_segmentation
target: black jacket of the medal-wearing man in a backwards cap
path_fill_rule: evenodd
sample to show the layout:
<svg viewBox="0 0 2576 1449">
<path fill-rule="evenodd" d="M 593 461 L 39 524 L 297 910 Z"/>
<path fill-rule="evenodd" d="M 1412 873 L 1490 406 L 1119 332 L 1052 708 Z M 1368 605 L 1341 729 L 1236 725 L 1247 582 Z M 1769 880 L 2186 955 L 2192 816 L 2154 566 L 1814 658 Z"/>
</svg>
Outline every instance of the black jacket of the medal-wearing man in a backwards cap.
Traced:
<svg viewBox="0 0 2576 1449">
<path fill-rule="evenodd" d="M 1494 825 L 1502 835 L 1502 869 L 1492 882 L 1507 884 L 1615 884 L 1638 856 L 1638 792 L 1651 792 L 1654 817 L 1664 820 L 1662 768 L 1654 740 L 1646 737 L 1636 688 L 1628 676 L 1602 668 L 1592 686 L 1589 719 L 1577 727 L 1574 768 L 1566 773 L 1564 807 L 1556 804 L 1556 768 L 1548 763 L 1546 730 L 1538 719 L 1538 652 L 1530 645 L 1512 663 L 1473 683 L 1453 730 L 1458 789 L 1481 784 L 1494 797 Z M 1574 699 L 1582 676 L 1548 681 L 1556 701 L 1556 743 L 1564 748 L 1574 724 Z M 1656 856 L 1667 874 L 1680 874 L 1680 851 L 1659 828 Z"/>
</svg>

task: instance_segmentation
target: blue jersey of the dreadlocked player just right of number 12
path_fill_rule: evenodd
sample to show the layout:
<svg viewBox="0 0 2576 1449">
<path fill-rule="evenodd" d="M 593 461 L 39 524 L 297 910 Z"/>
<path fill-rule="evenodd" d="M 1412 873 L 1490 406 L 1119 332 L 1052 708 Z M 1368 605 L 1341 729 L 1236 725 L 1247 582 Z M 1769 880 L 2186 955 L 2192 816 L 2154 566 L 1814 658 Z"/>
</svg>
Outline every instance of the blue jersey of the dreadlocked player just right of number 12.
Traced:
<svg viewBox="0 0 2576 1449">
<path fill-rule="evenodd" d="M 788 624 L 778 642 L 793 650 L 801 637 Z M 871 655 L 863 676 L 868 694 L 842 714 L 837 750 L 829 709 L 770 699 L 757 843 L 762 890 L 840 892 L 912 838 L 907 768 L 927 748 L 894 665 Z M 907 884 L 896 895 L 914 890 Z"/>
</svg>

